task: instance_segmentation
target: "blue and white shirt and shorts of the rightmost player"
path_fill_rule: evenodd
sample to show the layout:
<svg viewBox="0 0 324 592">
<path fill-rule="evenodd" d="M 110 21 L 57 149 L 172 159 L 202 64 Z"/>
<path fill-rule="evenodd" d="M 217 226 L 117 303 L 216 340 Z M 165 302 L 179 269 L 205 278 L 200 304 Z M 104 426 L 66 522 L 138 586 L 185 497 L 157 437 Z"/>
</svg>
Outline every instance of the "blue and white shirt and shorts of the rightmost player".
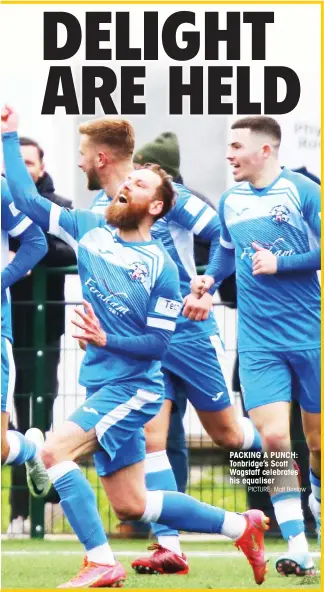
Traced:
<svg viewBox="0 0 324 592">
<path fill-rule="evenodd" d="M 268 187 L 240 183 L 219 205 L 219 282 L 236 267 L 240 379 L 247 409 L 289 401 L 320 411 L 320 188 L 283 168 Z M 278 257 L 274 275 L 252 275 L 252 243 Z"/>
</svg>

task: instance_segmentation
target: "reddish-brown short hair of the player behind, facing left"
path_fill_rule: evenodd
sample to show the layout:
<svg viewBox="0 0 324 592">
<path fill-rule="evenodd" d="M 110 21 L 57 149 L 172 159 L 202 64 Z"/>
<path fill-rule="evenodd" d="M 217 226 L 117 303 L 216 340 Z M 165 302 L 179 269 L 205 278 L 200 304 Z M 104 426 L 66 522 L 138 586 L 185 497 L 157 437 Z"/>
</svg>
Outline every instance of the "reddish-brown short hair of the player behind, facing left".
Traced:
<svg viewBox="0 0 324 592">
<path fill-rule="evenodd" d="M 105 144 L 119 158 L 130 158 L 134 152 L 134 128 L 125 119 L 102 117 L 81 123 L 80 134 L 85 134 L 96 144 Z"/>
</svg>

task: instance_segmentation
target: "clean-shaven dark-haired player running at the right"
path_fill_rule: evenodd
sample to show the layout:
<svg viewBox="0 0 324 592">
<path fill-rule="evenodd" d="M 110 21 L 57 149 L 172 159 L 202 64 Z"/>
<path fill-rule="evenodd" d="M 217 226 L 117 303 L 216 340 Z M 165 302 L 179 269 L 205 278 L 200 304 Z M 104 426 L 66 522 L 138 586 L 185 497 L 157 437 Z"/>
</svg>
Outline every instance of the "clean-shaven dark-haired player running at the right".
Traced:
<svg viewBox="0 0 324 592">
<path fill-rule="evenodd" d="M 220 249 L 199 296 L 236 266 L 238 348 L 245 407 L 264 450 L 283 453 L 290 475 L 273 475 L 271 500 L 288 552 L 279 573 L 314 573 L 290 458 L 289 403 L 301 406 L 310 450 L 310 507 L 320 530 L 320 189 L 281 168 L 279 124 L 251 117 L 232 125 L 228 160 L 238 184 L 220 200 Z M 212 269 L 212 266 L 211 266 Z M 190 308 L 184 310 L 190 314 Z M 297 461 L 298 462 L 298 461 Z"/>
</svg>

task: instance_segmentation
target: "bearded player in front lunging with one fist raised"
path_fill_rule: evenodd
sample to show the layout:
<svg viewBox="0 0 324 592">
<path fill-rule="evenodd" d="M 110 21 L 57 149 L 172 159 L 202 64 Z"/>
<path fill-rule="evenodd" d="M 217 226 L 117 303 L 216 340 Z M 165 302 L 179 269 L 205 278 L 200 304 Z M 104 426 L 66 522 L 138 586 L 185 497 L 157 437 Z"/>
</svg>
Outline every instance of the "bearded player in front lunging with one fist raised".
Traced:
<svg viewBox="0 0 324 592">
<path fill-rule="evenodd" d="M 37 193 L 21 158 L 17 115 L 8 109 L 6 114 L 4 158 L 16 205 L 74 247 L 85 299 L 82 322 L 74 323 L 87 342 L 80 371 L 87 398 L 42 451 L 63 510 L 86 550 L 80 573 L 63 587 L 108 587 L 126 575 L 107 542 L 93 490 L 75 462 L 94 450 L 97 472 L 119 518 L 221 532 L 243 550 L 261 584 L 267 528 L 262 512 L 226 512 L 182 493 L 145 488 L 142 428 L 162 404 L 160 360 L 182 305 L 176 266 L 150 236 L 154 221 L 172 206 L 167 175 L 156 166 L 130 174 L 106 218 L 65 210 Z"/>
</svg>

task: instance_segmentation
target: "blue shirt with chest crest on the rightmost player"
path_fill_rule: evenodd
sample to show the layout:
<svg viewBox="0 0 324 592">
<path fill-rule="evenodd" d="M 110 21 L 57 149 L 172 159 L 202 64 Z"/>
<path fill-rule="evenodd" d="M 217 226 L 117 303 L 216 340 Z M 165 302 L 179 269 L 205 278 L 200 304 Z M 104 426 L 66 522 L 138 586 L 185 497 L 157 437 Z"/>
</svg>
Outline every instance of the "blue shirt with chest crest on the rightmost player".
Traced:
<svg viewBox="0 0 324 592">
<path fill-rule="evenodd" d="M 320 188 L 284 168 L 268 187 L 243 182 L 220 200 L 220 244 L 235 256 L 239 351 L 288 351 L 320 345 L 320 287 L 314 269 L 289 265 L 317 256 Z M 255 242 L 278 260 L 274 275 L 252 275 Z M 235 253 L 235 255 L 234 255 Z M 302 259 L 302 258 L 300 258 Z M 287 265 L 285 265 L 287 264 Z M 221 273 L 222 270 L 220 270 Z M 217 281 L 217 273 L 215 275 Z"/>
</svg>

